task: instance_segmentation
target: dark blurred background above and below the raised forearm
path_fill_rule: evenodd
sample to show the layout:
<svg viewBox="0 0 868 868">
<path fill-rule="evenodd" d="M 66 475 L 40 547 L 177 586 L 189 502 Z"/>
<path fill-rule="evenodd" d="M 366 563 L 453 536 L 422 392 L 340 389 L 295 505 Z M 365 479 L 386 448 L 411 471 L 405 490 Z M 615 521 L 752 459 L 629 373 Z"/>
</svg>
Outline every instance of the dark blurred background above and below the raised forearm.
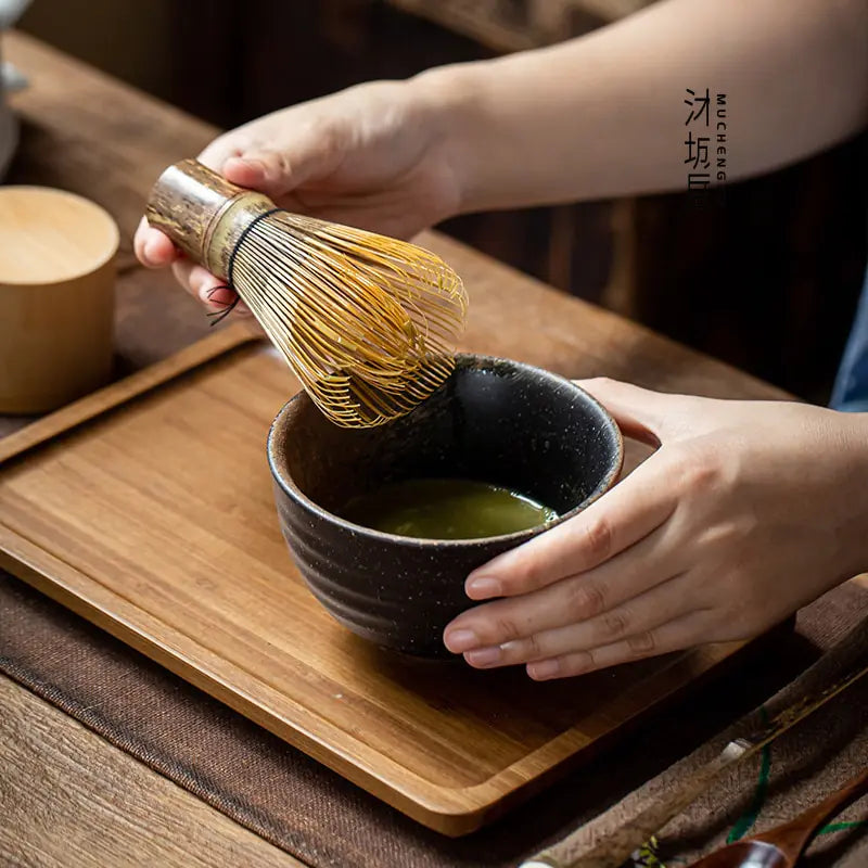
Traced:
<svg viewBox="0 0 868 868">
<path fill-rule="evenodd" d="M 21 27 L 231 127 L 361 80 L 580 35 L 648 1 L 35 0 Z M 698 209 L 679 193 L 470 215 L 441 228 L 825 401 L 865 273 L 866 156 L 863 136 L 730 186 L 725 207 Z"/>
</svg>

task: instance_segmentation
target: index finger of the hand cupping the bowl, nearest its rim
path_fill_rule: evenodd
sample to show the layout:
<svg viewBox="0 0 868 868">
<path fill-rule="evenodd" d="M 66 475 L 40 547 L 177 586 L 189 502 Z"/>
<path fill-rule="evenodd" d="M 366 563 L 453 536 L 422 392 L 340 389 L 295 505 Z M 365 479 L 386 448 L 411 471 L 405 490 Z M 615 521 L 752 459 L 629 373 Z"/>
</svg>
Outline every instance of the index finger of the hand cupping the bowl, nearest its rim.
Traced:
<svg viewBox="0 0 868 868">
<path fill-rule="evenodd" d="M 658 452 L 584 512 L 474 570 L 472 600 L 513 597 L 584 573 L 614 558 L 666 522 L 677 500 Z"/>
</svg>

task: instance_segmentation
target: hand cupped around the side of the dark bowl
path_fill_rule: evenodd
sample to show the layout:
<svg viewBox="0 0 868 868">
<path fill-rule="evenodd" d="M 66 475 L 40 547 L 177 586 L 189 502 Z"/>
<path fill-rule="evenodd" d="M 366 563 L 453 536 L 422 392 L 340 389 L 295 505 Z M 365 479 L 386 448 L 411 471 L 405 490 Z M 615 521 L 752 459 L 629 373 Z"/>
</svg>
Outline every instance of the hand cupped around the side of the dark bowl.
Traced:
<svg viewBox="0 0 868 868">
<path fill-rule="evenodd" d="M 468 577 L 490 601 L 445 642 L 471 666 L 541 680 L 746 639 L 868 567 L 868 416 L 580 385 L 660 448 Z"/>
</svg>

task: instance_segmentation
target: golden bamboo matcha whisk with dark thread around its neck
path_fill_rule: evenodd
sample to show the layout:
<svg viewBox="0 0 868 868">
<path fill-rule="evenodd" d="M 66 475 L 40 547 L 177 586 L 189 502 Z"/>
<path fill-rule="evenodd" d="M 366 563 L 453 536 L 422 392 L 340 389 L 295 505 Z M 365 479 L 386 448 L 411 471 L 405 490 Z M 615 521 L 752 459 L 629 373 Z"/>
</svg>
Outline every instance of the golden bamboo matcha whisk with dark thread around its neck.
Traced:
<svg viewBox="0 0 868 868">
<path fill-rule="evenodd" d="M 290 214 L 194 159 L 163 173 L 146 217 L 238 292 L 336 424 L 401 416 L 452 370 L 467 295 L 433 253 Z"/>
</svg>

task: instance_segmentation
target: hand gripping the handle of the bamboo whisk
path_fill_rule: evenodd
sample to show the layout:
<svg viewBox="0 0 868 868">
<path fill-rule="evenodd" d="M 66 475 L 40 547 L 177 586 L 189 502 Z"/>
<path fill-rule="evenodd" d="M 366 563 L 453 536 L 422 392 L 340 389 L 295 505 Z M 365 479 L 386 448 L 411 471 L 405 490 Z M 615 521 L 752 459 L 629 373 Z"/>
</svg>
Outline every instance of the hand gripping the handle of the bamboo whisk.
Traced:
<svg viewBox="0 0 868 868">
<path fill-rule="evenodd" d="M 447 144 L 450 99 L 414 79 L 359 85 L 227 132 L 199 158 L 288 210 L 410 238 L 460 208 Z M 135 248 L 145 266 L 171 264 L 179 282 L 212 307 L 234 301 L 144 220 Z"/>
</svg>

